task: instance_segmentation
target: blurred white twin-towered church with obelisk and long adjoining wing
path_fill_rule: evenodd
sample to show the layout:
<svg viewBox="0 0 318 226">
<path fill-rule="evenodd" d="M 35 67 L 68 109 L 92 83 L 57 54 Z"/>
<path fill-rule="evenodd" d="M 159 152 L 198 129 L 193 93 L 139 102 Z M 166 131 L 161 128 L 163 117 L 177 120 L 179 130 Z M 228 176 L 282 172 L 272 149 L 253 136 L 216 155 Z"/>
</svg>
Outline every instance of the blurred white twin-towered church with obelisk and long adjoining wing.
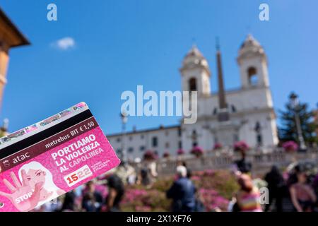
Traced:
<svg viewBox="0 0 318 226">
<path fill-rule="evenodd" d="M 114 150 L 126 150 L 129 159 L 142 157 L 153 150 L 176 155 L 194 146 L 212 150 L 216 143 L 232 146 L 245 141 L 250 147 L 271 148 L 278 143 L 276 114 L 269 88 L 267 57 L 261 44 L 248 35 L 237 56 L 241 87 L 225 90 L 221 53 L 217 47 L 218 93 L 211 93 L 211 71 L 208 61 L 197 47 L 184 57 L 179 70 L 182 90 L 197 91 L 197 121 L 195 124 L 160 126 L 157 129 L 131 131 L 107 136 Z M 181 120 L 183 121 L 183 120 Z M 124 138 L 124 141 L 122 140 Z"/>
</svg>

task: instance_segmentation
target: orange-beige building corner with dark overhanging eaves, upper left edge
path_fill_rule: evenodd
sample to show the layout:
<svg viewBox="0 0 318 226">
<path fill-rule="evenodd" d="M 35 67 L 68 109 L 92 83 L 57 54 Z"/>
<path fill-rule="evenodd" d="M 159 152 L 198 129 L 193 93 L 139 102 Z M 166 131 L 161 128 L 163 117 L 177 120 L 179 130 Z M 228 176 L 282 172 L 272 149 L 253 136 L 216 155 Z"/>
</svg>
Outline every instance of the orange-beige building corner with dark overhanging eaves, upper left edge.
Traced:
<svg viewBox="0 0 318 226">
<path fill-rule="evenodd" d="M 30 44 L 30 42 L 0 8 L 0 108 L 2 105 L 4 86 L 6 85 L 9 50 L 13 47 L 26 44 Z"/>
</svg>

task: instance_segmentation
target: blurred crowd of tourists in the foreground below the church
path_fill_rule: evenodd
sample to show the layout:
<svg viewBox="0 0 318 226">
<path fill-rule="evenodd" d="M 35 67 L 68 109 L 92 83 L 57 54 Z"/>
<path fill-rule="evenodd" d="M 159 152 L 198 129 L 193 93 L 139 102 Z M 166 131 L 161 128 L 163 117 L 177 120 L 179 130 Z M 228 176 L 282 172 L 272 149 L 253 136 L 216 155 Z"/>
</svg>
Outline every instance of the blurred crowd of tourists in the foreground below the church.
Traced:
<svg viewBox="0 0 318 226">
<path fill-rule="evenodd" d="M 234 162 L 231 169 L 239 189 L 233 194 L 228 211 L 317 211 L 318 175 L 314 177 L 308 174 L 304 165 L 290 165 L 284 173 L 273 166 L 263 178 L 267 184 L 264 191 L 268 191 L 268 194 L 262 193 L 257 188 L 252 179 L 251 169 L 251 162 L 247 162 L 242 153 L 242 158 Z M 151 188 L 158 179 L 160 178 L 158 178 L 155 161 L 151 157 L 145 157 L 137 171 L 131 165 L 122 163 L 111 172 L 79 186 L 34 211 L 118 212 L 121 211 L 120 204 L 127 185 L 139 184 L 147 189 Z M 172 200 L 170 210 L 205 211 L 203 201 L 197 194 L 198 189 L 200 188 L 197 188 L 192 181 L 191 169 L 185 162 L 179 162 L 175 180 L 166 191 L 166 198 Z M 289 209 L 285 207 L 288 206 L 288 201 L 291 206 Z"/>
</svg>

